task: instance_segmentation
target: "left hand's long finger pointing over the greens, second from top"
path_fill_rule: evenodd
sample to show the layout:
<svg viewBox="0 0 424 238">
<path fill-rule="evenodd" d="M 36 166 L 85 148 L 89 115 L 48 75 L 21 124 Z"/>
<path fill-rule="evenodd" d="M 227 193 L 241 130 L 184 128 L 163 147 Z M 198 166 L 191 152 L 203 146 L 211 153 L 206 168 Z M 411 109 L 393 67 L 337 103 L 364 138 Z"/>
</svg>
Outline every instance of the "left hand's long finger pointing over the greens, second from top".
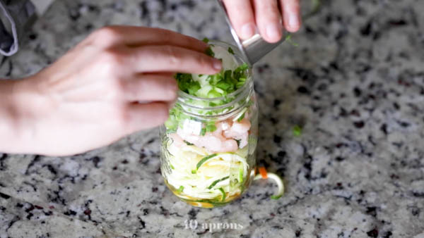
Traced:
<svg viewBox="0 0 424 238">
<path fill-rule="evenodd" d="M 177 46 L 141 46 L 126 49 L 124 61 L 137 72 L 181 72 L 212 75 L 218 73 L 222 63 L 203 52 Z"/>
</svg>

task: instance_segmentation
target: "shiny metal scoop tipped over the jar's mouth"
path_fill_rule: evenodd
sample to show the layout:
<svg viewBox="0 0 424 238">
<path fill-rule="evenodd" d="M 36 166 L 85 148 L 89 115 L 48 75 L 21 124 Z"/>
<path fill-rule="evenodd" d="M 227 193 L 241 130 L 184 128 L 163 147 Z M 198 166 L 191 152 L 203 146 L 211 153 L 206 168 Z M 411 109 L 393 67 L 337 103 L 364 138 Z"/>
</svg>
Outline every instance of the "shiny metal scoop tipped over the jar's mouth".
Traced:
<svg viewBox="0 0 424 238">
<path fill-rule="evenodd" d="M 259 34 L 255 34 L 253 37 L 249 39 L 245 39 L 245 40 L 240 39 L 240 37 L 237 36 L 237 33 L 235 32 L 234 28 L 231 25 L 230 18 L 228 18 L 228 13 L 223 1 L 222 0 L 217 0 L 217 1 L 218 1 L 218 5 L 223 9 L 225 13 L 225 19 L 227 20 L 227 23 L 230 27 L 232 37 L 234 38 L 235 42 L 237 43 L 237 46 L 239 47 L 240 51 L 245 57 L 245 60 L 250 65 L 257 63 L 257 61 L 259 61 L 262 57 L 264 57 L 266 54 L 268 54 L 270 51 L 276 48 L 276 46 L 284 42 L 285 37 L 281 37 L 281 40 L 279 42 L 271 44 L 266 42 Z"/>
</svg>

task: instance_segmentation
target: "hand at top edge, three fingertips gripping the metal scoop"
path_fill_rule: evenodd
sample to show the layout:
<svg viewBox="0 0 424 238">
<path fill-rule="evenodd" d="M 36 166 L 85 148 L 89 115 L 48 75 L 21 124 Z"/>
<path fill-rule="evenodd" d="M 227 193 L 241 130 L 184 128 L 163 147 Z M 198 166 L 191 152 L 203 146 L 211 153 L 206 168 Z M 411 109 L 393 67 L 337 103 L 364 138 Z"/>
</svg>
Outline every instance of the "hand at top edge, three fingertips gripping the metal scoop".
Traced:
<svg viewBox="0 0 424 238">
<path fill-rule="evenodd" d="M 299 0 L 223 0 L 237 35 L 249 39 L 256 31 L 270 43 L 283 36 L 283 25 L 288 32 L 296 32 L 301 25 Z M 278 6 L 281 5 L 281 7 Z"/>
</svg>

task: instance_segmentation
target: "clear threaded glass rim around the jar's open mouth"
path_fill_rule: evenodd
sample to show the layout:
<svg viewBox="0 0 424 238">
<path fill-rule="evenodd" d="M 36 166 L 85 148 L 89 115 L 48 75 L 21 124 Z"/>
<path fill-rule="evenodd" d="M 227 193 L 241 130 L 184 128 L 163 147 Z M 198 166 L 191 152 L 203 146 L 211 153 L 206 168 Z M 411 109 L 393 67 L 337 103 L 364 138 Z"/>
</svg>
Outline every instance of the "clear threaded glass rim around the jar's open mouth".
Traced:
<svg viewBox="0 0 424 238">
<path fill-rule="evenodd" d="M 234 46 L 233 44 L 229 44 L 227 42 L 221 42 L 221 41 L 218 41 L 218 40 L 210 40 L 209 43 L 216 44 L 218 46 L 223 46 L 223 47 L 231 47 L 232 50 L 235 52 L 235 54 L 234 54 L 235 58 L 237 58 L 237 60 L 242 62 L 242 63 L 247 63 L 247 61 L 245 61 L 245 59 L 242 57 L 242 53 L 240 52 L 240 50 L 238 49 L 237 46 Z M 247 65 L 249 65 L 249 63 L 247 63 Z M 252 77 L 252 68 L 250 67 L 250 65 L 249 65 L 249 68 L 247 68 L 246 71 L 247 71 L 247 77 L 246 77 L 245 84 L 243 84 L 242 87 L 240 87 L 239 89 L 236 89 L 234 92 L 231 92 L 230 94 L 227 94 L 225 96 L 215 97 L 215 98 L 203 98 L 203 97 L 187 94 L 186 92 L 183 92 L 182 90 L 178 89 L 177 101 L 179 103 L 184 104 L 185 106 L 188 106 L 190 108 L 197 108 L 197 109 L 215 110 L 215 109 L 228 107 L 229 104 L 232 104 L 234 101 L 237 101 L 237 99 L 240 98 L 244 94 L 243 92 L 248 91 L 249 88 L 251 87 L 251 85 L 253 83 L 253 77 Z M 241 95 L 239 95 L 239 94 L 241 94 Z M 192 99 L 192 100 L 197 100 L 197 101 L 217 101 L 217 100 L 225 100 L 225 99 L 228 99 L 229 97 L 232 97 L 232 96 L 235 96 L 234 100 L 228 102 L 227 104 L 222 104 L 222 105 L 219 105 L 219 106 L 199 107 L 199 106 L 196 106 L 196 105 L 187 104 L 187 102 L 184 101 L 184 99 Z"/>
</svg>

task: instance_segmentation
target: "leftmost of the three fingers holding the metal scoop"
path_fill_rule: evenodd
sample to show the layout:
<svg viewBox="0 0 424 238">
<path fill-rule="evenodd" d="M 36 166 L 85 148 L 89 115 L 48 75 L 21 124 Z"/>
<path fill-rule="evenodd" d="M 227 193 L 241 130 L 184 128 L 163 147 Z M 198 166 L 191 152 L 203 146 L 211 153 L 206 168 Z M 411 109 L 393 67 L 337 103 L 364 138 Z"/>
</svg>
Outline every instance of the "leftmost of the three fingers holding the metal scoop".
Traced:
<svg viewBox="0 0 424 238">
<path fill-rule="evenodd" d="M 250 0 L 224 0 L 224 4 L 237 35 L 241 39 L 252 37 L 256 27 Z"/>
</svg>

